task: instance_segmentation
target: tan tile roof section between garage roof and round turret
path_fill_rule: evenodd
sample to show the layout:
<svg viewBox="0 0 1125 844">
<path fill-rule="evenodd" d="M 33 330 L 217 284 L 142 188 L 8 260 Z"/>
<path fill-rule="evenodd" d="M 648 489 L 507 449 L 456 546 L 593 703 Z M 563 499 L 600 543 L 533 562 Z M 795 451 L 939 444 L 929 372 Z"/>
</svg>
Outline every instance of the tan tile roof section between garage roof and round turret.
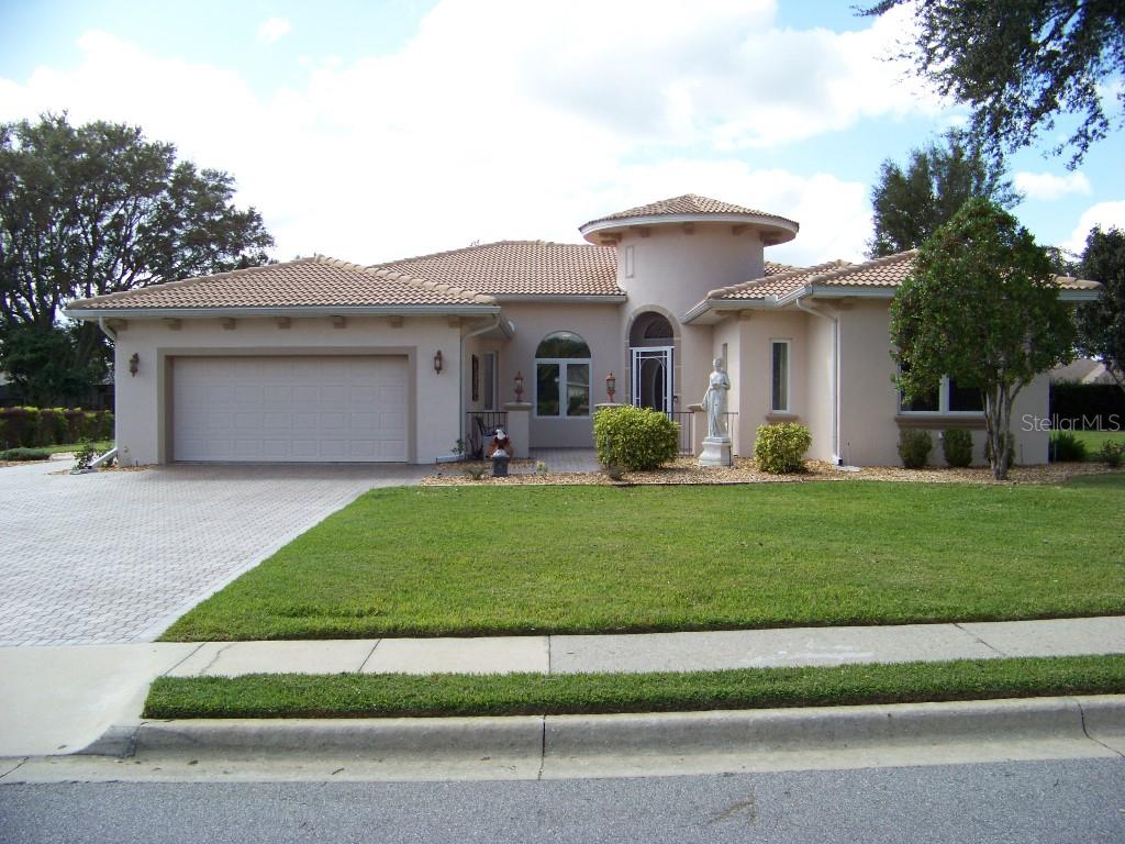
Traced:
<svg viewBox="0 0 1125 844">
<path fill-rule="evenodd" d="M 585 243 L 498 241 L 375 268 L 466 285 L 489 296 L 624 295 L 618 287 L 616 250 Z"/>
</svg>

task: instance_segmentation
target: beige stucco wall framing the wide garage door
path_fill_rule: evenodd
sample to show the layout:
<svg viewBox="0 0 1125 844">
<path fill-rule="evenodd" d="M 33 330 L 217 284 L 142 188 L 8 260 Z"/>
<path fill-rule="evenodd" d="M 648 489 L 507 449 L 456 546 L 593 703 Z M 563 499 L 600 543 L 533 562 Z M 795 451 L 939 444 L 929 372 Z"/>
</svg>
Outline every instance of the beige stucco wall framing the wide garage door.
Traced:
<svg viewBox="0 0 1125 844">
<path fill-rule="evenodd" d="M 460 329 L 436 317 L 407 317 L 393 327 L 380 317 L 349 317 L 342 329 L 327 317 L 294 318 L 279 329 L 272 318 L 237 320 L 233 330 L 218 320 L 182 320 L 171 330 L 159 320 L 129 320 L 115 345 L 117 446 L 124 465 L 174 459 L 171 387 L 177 357 L 246 354 L 399 354 L 407 358 L 408 459 L 433 463 L 449 455 L 459 433 L 457 371 Z M 433 370 L 441 350 L 443 370 Z M 140 356 L 130 376 L 129 358 Z"/>
</svg>

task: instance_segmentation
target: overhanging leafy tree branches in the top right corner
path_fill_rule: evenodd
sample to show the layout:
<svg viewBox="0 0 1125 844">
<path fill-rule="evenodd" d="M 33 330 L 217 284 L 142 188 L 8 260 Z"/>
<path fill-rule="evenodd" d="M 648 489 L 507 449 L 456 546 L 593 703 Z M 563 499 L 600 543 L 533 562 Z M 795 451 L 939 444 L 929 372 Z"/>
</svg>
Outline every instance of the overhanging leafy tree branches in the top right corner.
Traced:
<svg viewBox="0 0 1125 844">
<path fill-rule="evenodd" d="M 1105 101 L 1125 106 L 1125 88 L 1107 84 L 1125 72 L 1122 0 L 882 0 L 863 12 L 908 2 L 918 73 L 970 106 L 973 135 L 992 152 L 1028 146 L 1073 115 L 1077 127 L 1054 149 L 1070 147 L 1073 167 L 1123 125 Z"/>
</svg>

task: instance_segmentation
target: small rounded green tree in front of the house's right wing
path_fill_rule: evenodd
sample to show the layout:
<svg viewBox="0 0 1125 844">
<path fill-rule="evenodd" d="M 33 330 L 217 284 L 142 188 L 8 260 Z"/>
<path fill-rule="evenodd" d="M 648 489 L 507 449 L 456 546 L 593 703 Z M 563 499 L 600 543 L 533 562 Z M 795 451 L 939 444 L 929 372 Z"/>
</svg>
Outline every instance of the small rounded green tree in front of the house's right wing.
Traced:
<svg viewBox="0 0 1125 844">
<path fill-rule="evenodd" d="M 1011 406 L 1040 372 L 1071 357 L 1074 326 L 1046 251 L 1014 216 L 970 199 L 918 250 L 891 304 L 892 357 L 909 398 L 943 376 L 984 397 L 992 474 L 1007 477 Z"/>
</svg>

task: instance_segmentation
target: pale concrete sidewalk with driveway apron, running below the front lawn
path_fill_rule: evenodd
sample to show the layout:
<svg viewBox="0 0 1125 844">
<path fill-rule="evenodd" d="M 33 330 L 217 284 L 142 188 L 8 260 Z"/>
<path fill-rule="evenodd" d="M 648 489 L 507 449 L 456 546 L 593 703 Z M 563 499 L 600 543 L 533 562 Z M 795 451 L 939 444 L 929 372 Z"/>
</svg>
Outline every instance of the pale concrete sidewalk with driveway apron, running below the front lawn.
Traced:
<svg viewBox="0 0 1125 844">
<path fill-rule="evenodd" d="M 696 671 L 1125 653 L 1125 617 L 622 636 L 0 648 L 0 757 L 73 753 L 136 724 L 158 676 Z"/>
</svg>

